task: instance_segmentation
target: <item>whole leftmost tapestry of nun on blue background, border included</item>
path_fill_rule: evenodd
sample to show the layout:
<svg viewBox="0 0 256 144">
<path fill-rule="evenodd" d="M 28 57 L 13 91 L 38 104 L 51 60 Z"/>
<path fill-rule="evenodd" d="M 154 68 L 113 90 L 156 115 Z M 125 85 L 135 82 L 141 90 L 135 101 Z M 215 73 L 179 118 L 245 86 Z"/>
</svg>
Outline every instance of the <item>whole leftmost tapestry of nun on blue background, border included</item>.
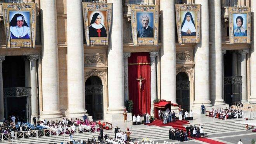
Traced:
<svg viewBox="0 0 256 144">
<path fill-rule="evenodd" d="M 36 4 L 2 3 L 6 47 L 35 48 Z"/>
</svg>

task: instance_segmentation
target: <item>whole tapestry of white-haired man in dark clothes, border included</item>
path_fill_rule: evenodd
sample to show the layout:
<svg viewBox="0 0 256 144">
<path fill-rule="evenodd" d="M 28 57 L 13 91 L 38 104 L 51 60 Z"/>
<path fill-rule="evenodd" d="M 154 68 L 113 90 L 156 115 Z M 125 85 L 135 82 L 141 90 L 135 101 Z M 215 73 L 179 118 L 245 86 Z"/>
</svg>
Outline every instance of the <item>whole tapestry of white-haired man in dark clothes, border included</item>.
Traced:
<svg viewBox="0 0 256 144">
<path fill-rule="evenodd" d="M 158 45 L 158 5 L 131 5 L 133 45 Z"/>
</svg>

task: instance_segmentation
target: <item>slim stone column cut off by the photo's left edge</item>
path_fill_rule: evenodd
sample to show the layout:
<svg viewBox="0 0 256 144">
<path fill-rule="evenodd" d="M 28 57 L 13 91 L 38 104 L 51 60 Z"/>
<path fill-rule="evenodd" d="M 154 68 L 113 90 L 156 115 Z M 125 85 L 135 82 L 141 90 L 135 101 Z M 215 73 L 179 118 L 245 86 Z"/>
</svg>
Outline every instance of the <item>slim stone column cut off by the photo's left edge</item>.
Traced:
<svg viewBox="0 0 256 144">
<path fill-rule="evenodd" d="M 5 56 L 0 56 L 0 121 L 4 120 L 4 104 L 3 104 L 3 68 L 2 63 L 5 60 Z"/>
</svg>

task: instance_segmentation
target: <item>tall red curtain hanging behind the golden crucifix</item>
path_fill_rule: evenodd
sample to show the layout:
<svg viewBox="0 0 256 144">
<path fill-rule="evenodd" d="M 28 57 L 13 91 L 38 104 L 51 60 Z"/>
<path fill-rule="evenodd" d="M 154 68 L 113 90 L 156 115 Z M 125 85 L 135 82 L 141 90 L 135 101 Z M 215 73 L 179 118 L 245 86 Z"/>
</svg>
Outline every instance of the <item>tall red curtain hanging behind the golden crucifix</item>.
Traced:
<svg viewBox="0 0 256 144">
<path fill-rule="evenodd" d="M 140 89 L 139 77 L 144 78 Z M 150 57 L 149 53 L 131 53 L 128 58 L 129 100 L 133 101 L 133 113 L 150 114 Z"/>
</svg>

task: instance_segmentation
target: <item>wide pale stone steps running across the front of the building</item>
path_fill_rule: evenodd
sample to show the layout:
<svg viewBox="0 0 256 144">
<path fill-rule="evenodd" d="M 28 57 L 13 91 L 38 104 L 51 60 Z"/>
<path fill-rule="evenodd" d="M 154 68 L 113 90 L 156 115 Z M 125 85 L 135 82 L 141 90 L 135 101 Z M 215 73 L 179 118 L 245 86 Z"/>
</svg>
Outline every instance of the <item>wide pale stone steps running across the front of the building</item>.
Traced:
<svg viewBox="0 0 256 144">
<path fill-rule="evenodd" d="M 240 123 L 235 123 L 237 121 L 241 121 L 241 120 L 232 120 L 232 121 L 223 120 L 221 122 L 208 122 L 201 125 L 206 135 L 245 131 L 245 125 Z M 190 125 L 190 124 L 184 124 L 183 129 L 184 127 L 187 127 L 187 125 Z M 177 128 L 177 125 L 172 125 L 172 126 Z M 153 141 L 166 140 L 169 138 L 168 130 L 170 128 L 173 129 L 172 126 L 167 126 L 167 127 L 149 126 L 147 128 L 142 128 L 142 129 L 133 129 L 131 130 L 132 132 L 131 140 L 141 141 L 145 137 Z M 99 134 L 100 134 L 99 132 L 81 133 L 81 134 L 73 135 L 73 139 L 87 140 L 88 138 L 91 139 L 93 136 L 95 137 L 95 139 L 97 139 Z M 109 137 L 114 137 L 114 130 L 106 130 L 104 131 L 104 135 L 105 134 L 107 134 Z M 57 143 L 63 142 L 65 144 L 68 140 L 69 140 L 69 135 L 59 135 L 59 136 L 40 137 L 40 138 L 31 138 L 31 139 L 18 139 L 18 140 L 15 140 L 14 142 L 4 141 L 4 142 L 0 142 L 0 144 L 17 144 L 17 143 L 22 143 L 22 144 L 51 143 L 53 144 L 54 142 L 57 142 Z"/>
</svg>

